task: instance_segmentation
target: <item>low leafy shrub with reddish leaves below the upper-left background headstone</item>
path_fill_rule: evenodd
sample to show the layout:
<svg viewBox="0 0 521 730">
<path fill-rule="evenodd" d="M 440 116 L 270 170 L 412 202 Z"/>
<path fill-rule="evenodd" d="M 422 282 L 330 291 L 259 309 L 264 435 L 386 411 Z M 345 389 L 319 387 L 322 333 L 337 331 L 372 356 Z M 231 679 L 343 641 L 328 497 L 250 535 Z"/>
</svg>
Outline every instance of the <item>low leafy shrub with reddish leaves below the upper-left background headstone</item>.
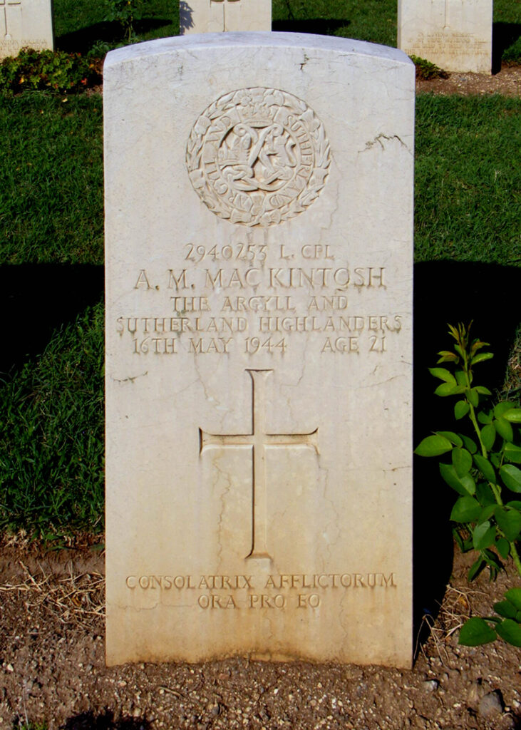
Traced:
<svg viewBox="0 0 521 730">
<path fill-rule="evenodd" d="M 0 91 L 8 95 L 27 90 L 78 92 L 96 82 L 96 65 L 79 53 L 23 48 L 0 63 Z"/>
</svg>

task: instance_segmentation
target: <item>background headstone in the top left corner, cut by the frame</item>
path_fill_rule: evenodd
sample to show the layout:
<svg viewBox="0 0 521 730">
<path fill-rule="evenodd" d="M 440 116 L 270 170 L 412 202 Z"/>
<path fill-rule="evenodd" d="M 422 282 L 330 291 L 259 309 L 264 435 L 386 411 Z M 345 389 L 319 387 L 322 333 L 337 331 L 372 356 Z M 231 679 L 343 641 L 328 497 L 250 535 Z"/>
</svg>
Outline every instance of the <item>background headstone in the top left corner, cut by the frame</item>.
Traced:
<svg viewBox="0 0 521 730">
<path fill-rule="evenodd" d="M 51 0 L 0 0 L 0 58 L 23 47 L 53 49 Z"/>
</svg>

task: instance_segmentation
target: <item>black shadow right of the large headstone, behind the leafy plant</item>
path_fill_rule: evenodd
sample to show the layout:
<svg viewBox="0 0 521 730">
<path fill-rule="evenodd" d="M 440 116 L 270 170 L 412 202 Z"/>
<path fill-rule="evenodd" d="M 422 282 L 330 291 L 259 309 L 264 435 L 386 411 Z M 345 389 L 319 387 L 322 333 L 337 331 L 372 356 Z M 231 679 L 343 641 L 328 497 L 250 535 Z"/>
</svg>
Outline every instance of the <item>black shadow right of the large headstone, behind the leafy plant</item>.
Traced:
<svg viewBox="0 0 521 730">
<path fill-rule="evenodd" d="M 439 398 L 428 372 L 452 348 L 447 323 L 468 324 L 490 342 L 494 358 L 476 369 L 476 384 L 501 391 L 520 322 L 521 269 L 430 261 L 414 266 L 414 446 L 432 431 L 455 429 L 454 398 Z M 466 423 L 461 422 L 466 429 Z M 469 434 L 470 435 L 470 434 Z M 435 616 L 452 572 L 449 515 L 457 495 L 439 475 L 437 458 L 414 457 L 414 635 Z M 427 626 L 422 627 L 427 631 Z M 424 631 L 420 638 L 426 638 Z"/>
</svg>

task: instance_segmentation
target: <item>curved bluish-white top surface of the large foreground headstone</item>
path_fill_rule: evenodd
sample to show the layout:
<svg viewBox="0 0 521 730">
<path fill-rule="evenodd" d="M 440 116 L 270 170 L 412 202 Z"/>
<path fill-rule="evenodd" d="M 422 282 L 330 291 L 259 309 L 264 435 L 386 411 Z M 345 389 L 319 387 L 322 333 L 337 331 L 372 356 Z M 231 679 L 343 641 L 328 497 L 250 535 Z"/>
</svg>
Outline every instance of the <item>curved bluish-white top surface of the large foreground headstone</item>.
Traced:
<svg viewBox="0 0 521 730">
<path fill-rule="evenodd" d="M 396 64 L 412 64 L 406 53 L 397 48 L 368 43 L 350 38 L 335 36 L 318 36 L 310 33 L 272 33 L 269 31 L 242 31 L 238 33 L 201 33 L 188 36 L 174 36 L 158 40 L 136 43 L 135 45 L 117 48 L 107 54 L 104 68 L 120 64 L 124 61 L 133 61 L 137 58 L 146 58 L 151 55 L 162 55 L 172 51 L 194 50 L 209 47 L 287 47 L 307 48 L 323 51 L 336 51 L 342 54 L 363 56 L 377 56 L 387 58 Z"/>
</svg>

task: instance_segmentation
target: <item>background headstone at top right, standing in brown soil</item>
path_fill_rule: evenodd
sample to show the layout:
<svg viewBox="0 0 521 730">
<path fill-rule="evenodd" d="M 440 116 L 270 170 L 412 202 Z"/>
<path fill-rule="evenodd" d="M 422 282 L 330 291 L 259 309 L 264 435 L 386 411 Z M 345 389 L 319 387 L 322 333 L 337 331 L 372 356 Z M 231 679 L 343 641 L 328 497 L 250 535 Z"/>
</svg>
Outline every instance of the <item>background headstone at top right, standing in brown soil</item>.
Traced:
<svg viewBox="0 0 521 730">
<path fill-rule="evenodd" d="M 398 0 L 398 48 L 445 71 L 490 74 L 493 0 Z"/>
</svg>

